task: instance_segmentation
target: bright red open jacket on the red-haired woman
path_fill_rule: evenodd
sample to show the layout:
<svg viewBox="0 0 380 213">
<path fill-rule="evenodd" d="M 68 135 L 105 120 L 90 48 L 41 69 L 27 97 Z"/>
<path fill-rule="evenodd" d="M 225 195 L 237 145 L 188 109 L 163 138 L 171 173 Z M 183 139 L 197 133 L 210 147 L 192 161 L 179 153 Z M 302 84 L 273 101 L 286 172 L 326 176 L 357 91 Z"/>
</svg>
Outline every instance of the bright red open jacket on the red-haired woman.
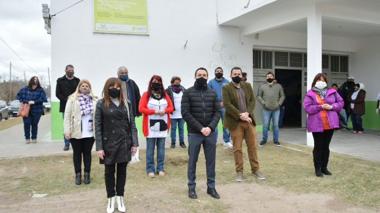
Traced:
<svg viewBox="0 0 380 213">
<path fill-rule="evenodd" d="M 170 117 L 169 113 L 173 112 L 174 107 L 172 104 L 172 101 L 170 101 L 169 95 L 165 92 L 165 99 L 167 101 L 167 107 L 165 109 L 166 115 L 167 115 L 167 132 L 169 132 L 170 129 Z M 143 133 L 144 136 L 148 136 L 149 132 L 149 125 L 148 125 L 148 115 L 149 114 L 154 114 L 155 110 L 154 109 L 148 109 L 148 93 L 144 92 L 143 95 L 141 95 L 141 99 L 139 102 L 139 111 L 143 114 Z"/>
</svg>

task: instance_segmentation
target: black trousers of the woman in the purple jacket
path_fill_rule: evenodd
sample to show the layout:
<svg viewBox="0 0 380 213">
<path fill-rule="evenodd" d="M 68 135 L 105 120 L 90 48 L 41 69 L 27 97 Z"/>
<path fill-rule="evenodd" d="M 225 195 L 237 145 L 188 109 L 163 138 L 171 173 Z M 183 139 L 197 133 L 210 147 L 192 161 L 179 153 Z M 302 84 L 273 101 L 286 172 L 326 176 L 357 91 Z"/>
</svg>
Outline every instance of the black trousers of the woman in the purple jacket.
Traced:
<svg viewBox="0 0 380 213">
<path fill-rule="evenodd" d="M 326 129 L 322 132 L 313 132 L 314 149 L 313 161 L 314 166 L 321 167 L 327 166 L 330 156 L 330 142 L 334 129 Z"/>
</svg>

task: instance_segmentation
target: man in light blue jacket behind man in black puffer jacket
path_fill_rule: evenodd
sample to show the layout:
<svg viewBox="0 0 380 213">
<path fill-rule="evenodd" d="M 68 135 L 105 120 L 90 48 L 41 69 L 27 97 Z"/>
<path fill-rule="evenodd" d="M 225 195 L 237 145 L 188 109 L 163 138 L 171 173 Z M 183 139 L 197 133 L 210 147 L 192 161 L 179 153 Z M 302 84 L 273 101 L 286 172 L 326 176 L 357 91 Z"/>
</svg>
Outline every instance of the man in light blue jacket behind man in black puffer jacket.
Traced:
<svg viewBox="0 0 380 213">
<path fill-rule="evenodd" d="M 224 106 L 223 106 L 223 101 L 222 101 L 222 86 L 225 84 L 229 83 L 228 80 L 226 80 L 223 77 L 223 69 L 221 67 L 218 67 L 215 69 L 215 78 L 210 80 L 207 84 L 208 88 L 211 88 L 216 91 L 218 94 L 218 98 L 220 101 L 220 107 L 222 108 L 222 124 L 224 124 Z M 216 139 L 218 140 L 218 127 L 215 129 L 215 135 Z M 224 141 L 224 146 L 232 148 L 231 140 L 230 140 L 230 131 L 223 126 L 223 141 Z"/>
</svg>

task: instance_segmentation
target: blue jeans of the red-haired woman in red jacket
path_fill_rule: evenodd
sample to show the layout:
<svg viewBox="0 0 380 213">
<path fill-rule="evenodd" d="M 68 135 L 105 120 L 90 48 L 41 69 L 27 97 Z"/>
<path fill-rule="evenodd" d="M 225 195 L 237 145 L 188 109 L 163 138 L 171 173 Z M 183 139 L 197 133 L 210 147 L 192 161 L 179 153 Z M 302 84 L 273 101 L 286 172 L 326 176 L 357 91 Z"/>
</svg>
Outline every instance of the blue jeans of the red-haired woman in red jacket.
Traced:
<svg viewBox="0 0 380 213">
<path fill-rule="evenodd" d="M 164 171 L 165 138 L 146 138 L 146 173 L 155 173 L 155 146 L 157 146 L 157 172 Z"/>
</svg>

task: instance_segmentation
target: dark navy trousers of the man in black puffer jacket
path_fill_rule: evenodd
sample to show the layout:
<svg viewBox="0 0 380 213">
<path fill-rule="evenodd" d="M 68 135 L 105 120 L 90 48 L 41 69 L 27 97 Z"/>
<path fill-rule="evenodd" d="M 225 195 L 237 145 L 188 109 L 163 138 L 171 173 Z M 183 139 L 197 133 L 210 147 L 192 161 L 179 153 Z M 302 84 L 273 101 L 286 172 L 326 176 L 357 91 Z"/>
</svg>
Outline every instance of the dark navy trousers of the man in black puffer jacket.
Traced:
<svg viewBox="0 0 380 213">
<path fill-rule="evenodd" d="M 187 165 L 187 186 L 195 189 L 197 161 L 199 151 L 203 145 L 204 157 L 206 159 L 207 188 L 215 188 L 215 156 L 216 140 L 215 132 L 211 132 L 207 137 L 199 133 L 187 133 L 188 137 L 188 165 Z"/>
</svg>

